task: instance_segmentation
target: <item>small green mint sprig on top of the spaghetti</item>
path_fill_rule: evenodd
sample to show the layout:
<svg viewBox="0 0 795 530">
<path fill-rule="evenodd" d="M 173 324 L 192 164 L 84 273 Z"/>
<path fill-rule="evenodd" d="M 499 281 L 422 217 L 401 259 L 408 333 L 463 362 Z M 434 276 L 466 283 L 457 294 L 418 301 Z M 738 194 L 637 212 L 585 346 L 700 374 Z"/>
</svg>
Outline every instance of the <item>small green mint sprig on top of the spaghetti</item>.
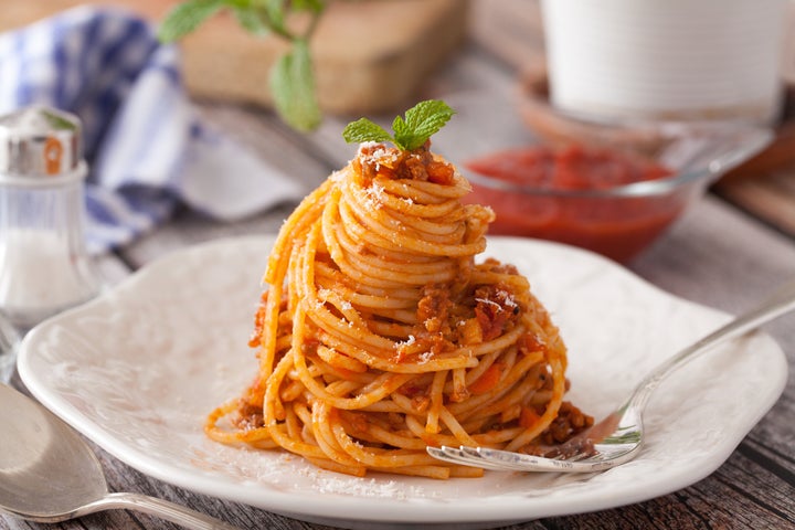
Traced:
<svg viewBox="0 0 795 530">
<path fill-rule="evenodd" d="M 427 99 L 406 110 L 405 117 L 395 117 L 392 135 L 370 119 L 359 118 L 346 126 L 342 138 L 349 144 L 391 141 L 403 151 L 413 151 L 444 127 L 454 114 L 455 110 L 443 100 Z"/>
</svg>

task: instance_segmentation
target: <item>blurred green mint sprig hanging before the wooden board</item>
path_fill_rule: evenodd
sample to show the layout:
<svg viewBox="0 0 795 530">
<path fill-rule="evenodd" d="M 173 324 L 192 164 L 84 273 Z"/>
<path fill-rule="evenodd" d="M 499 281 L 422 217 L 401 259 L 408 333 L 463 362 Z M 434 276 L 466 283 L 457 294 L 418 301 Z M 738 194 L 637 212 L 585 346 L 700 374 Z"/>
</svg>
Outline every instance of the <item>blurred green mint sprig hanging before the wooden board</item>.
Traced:
<svg viewBox="0 0 795 530">
<path fill-rule="evenodd" d="M 173 42 L 197 30 L 222 10 L 230 10 L 241 28 L 254 35 L 276 35 L 290 47 L 271 70 L 269 88 L 274 106 L 290 127 L 308 131 L 321 120 L 317 102 L 312 60 L 308 42 L 325 8 L 326 0 L 187 0 L 177 4 L 162 21 L 158 36 Z M 292 13 L 309 13 L 303 29 L 288 28 Z"/>
</svg>

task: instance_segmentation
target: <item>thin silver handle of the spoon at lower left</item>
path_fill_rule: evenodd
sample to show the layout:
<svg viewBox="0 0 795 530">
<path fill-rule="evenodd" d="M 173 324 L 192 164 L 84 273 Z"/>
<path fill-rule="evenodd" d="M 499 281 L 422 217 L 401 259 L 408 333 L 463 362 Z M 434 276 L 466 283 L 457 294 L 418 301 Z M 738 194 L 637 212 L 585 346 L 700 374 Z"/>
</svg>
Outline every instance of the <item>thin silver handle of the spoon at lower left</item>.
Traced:
<svg viewBox="0 0 795 530">
<path fill-rule="evenodd" d="M 104 498 L 78 509 L 73 517 L 82 517 L 96 511 L 116 508 L 157 516 L 192 530 L 240 530 L 237 527 L 184 506 L 139 494 L 108 494 Z"/>
</svg>

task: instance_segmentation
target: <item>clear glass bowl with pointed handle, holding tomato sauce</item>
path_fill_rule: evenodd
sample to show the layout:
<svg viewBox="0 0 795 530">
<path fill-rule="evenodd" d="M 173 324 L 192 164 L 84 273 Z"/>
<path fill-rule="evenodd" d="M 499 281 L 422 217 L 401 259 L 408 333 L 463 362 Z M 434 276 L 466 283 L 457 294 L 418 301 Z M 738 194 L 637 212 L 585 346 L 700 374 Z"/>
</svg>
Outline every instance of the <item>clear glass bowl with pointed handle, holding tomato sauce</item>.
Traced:
<svg viewBox="0 0 795 530">
<path fill-rule="evenodd" d="M 473 159 L 463 159 L 458 168 L 473 186 L 467 200 L 495 210 L 489 234 L 558 241 L 625 263 L 656 241 L 718 178 L 760 152 L 773 132 L 734 123 L 656 123 L 634 124 L 632 136 L 644 141 L 598 149 L 644 157 L 668 168 L 667 177 L 608 188 L 558 189 L 496 178 L 490 171 L 473 170 Z M 506 152 L 511 151 L 516 148 Z"/>
</svg>

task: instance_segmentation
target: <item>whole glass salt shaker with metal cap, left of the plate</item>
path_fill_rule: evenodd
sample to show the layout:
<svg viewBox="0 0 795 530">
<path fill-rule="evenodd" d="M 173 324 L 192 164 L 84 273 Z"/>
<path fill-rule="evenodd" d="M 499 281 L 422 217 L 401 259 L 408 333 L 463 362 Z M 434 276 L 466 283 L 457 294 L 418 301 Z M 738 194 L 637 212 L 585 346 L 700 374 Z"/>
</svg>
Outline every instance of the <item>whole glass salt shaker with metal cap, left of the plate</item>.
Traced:
<svg viewBox="0 0 795 530">
<path fill-rule="evenodd" d="M 43 106 L 0 117 L 0 311 L 20 330 L 99 289 L 81 134 L 76 116 Z"/>
</svg>

